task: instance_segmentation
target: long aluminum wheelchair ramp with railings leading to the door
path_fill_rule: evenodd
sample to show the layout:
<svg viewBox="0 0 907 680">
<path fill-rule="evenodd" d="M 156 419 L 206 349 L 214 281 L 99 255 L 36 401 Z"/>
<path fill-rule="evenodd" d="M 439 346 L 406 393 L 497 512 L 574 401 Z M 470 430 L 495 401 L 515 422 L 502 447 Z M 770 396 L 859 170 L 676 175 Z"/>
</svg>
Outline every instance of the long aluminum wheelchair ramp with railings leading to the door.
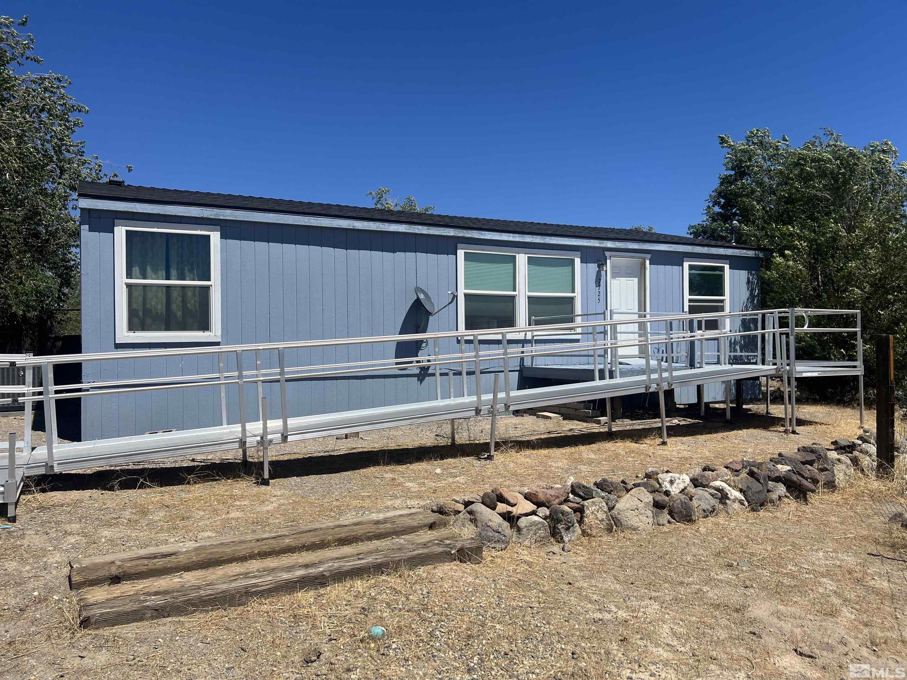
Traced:
<svg viewBox="0 0 907 680">
<path fill-rule="evenodd" d="M 856 325 L 842 327 L 812 327 L 809 319 L 813 316 L 855 315 Z M 797 327 L 795 320 L 803 316 L 805 325 Z M 786 327 L 781 324 L 785 317 Z M 702 330 L 705 322 L 717 321 L 716 330 Z M 268 449 L 280 442 L 292 442 L 315 437 L 327 437 L 348 432 L 377 430 L 414 423 L 453 421 L 474 415 L 492 418 L 491 452 L 494 446 L 494 424 L 499 413 L 514 410 L 538 408 L 541 406 L 607 399 L 610 397 L 638 393 L 658 393 L 661 414 L 662 441 L 667 442 L 668 430 L 665 417 L 666 390 L 688 385 L 723 382 L 726 384 L 726 409 L 730 417 L 730 389 L 732 381 L 778 377 L 785 384 L 785 428 L 795 431 L 796 405 L 795 381 L 800 377 L 814 375 L 857 375 L 861 394 L 861 423 L 863 422 L 863 355 L 861 351 L 859 312 L 848 310 L 760 310 L 757 312 L 725 313 L 717 315 L 674 315 L 648 317 L 640 316 L 639 337 L 630 341 L 619 340 L 626 336 L 626 319 L 619 321 L 593 320 L 573 324 L 544 325 L 520 328 L 494 329 L 435 333 L 424 335 L 390 335 L 368 338 L 343 338 L 297 343 L 275 343 L 266 345 L 234 345 L 215 347 L 183 347 L 178 349 L 139 350 L 95 355 L 61 355 L 22 357 L 14 359 L 16 365 L 26 367 L 42 366 L 46 379 L 42 387 L 32 386 L 26 378 L 25 385 L 8 389 L 21 394 L 15 399 L 25 404 L 26 412 L 32 411 L 35 402 L 44 403 L 47 443 L 44 446 L 31 445 L 31 419 L 26 418 L 24 441 L 16 441 L 11 435 L 7 443 L 6 474 L 3 502 L 7 517 L 15 520 L 15 504 L 22 489 L 25 476 L 76 471 L 107 465 L 118 465 L 140 461 L 158 461 L 179 456 L 207 452 L 239 450 L 243 461 L 248 461 L 249 447 L 260 447 L 262 453 L 262 481 L 268 483 Z M 795 358 L 795 337 L 799 333 L 845 332 L 854 333 L 857 340 L 857 358 L 853 362 L 808 361 L 797 364 Z M 570 339 L 563 335 L 570 333 Z M 546 335 L 556 335 L 554 343 L 540 345 Z M 488 344 L 489 339 L 493 341 Z M 439 343 L 454 340 L 459 344 L 459 354 L 442 354 Z M 386 345 L 397 342 L 417 342 L 420 346 L 432 347 L 429 355 L 411 359 L 393 356 L 334 364 L 288 365 L 286 350 L 308 347 L 329 347 L 340 345 Z M 466 345 L 472 341 L 472 352 L 467 354 Z M 755 341 L 755 342 L 753 342 Z M 482 342 L 485 343 L 483 348 Z M 755 352 L 753 347 L 755 346 Z M 621 374 L 619 349 L 639 346 L 643 355 L 639 370 L 624 371 Z M 276 353 L 278 368 L 262 369 L 261 354 Z M 244 353 L 254 353 L 256 369 L 248 372 L 243 366 Z M 301 354 L 301 353 L 296 353 Z M 377 352 L 371 353 L 376 355 Z M 218 358 L 217 374 L 193 374 L 154 379 L 131 379 L 105 381 L 94 384 L 54 385 L 54 364 L 75 362 L 129 361 L 160 356 L 215 355 Z M 568 355 L 589 360 L 590 380 L 571 384 L 557 384 L 531 389 L 512 389 L 513 367 L 524 366 L 527 362 L 551 360 L 556 356 Z M 236 359 L 236 370 L 228 370 L 225 358 Z M 715 363 L 708 363 L 707 357 L 714 357 Z M 601 360 L 604 360 L 603 362 Z M 741 361 L 742 360 L 742 361 Z M 493 375 L 491 391 L 483 385 L 483 368 L 497 369 Z M 605 366 L 614 366 L 613 370 Z M 288 415 L 287 385 L 297 380 L 317 377 L 368 374 L 386 371 L 389 368 L 418 367 L 434 373 L 435 398 L 430 401 L 398 403 L 374 408 L 358 409 L 340 413 L 320 415 Z M 468 368 L 473 369 L 469 379 Z M 441 372 L 449 376 L 449 393 L 442 396 Z M 28 374 L 31 374 L 29 371 Z M 460 377 L 460 395 L 454 395 L 455 376 Z M 487 381 L 486 381 L 487 382 Z M 268 417 L 268 397 L 264 396 L 263 385 L 278 385 L 280 418 Z M 474 383 L 472 390 L 470 383 Z M 503 384 L 501 384 L 503 383 Z M 258 388 L 260 408 L 258 419 L 247 417 L 244 405 L 246 384 Z M 788 385 L 790 404 L 788 407 Z M 154 392 L 195 388 L 212 388 L 219 392 L 221 424 L 212 427 L 195 428 L 178 432 L 156 432 L 135 436 L 101 439 L 90 442 L 59 442 L 55 432 L 54 401 L 72 396 L 96 398 L 101 396 L 129 393 Z M 7 389 L 7 388 L 4 388 Z M 235 389 L 239 399 L 239 422 L 228 422 L 227 390 Z M 472 391 L 472 393 L 470 393 Z M 262 414 L 265 414 L 262 416 Z M 453 442 L 453 436 L 452 436 Z"/>
</svg>

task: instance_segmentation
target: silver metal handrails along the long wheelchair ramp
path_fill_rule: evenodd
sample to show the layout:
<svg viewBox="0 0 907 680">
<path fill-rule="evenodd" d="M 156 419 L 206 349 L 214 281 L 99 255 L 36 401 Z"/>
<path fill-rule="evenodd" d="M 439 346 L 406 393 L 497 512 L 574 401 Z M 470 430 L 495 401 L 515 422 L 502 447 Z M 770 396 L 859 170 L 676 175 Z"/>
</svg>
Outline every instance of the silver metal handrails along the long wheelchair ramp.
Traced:
<svg viewBox="0 0 907 680">
<path fill-rule="evenodd" d="M 598 315 L 599 313 L 595 313 Z M 648 315 L 648 313 L 646 313 Z M 654 315 L 654 313 L 653 313 Z M 815 327 L 809 325 L 810 316 L 831 316 L 831 315 L 855 315 L 855 326 L 846 327 Z M 605 313 L 608 316 L 608 313 Z M 805 326 L 796 327 L 796 316 L 805 317 Z M 783 327 L 780 319 L 788 319 L 787 327 Z M 730 330 L 731 319 L 757 318 L 758 327 L 754 330 Z M 717 320 L 717 329 L 697 330 L 697 326 L 705 327 L 705 322 Z M 763 323 L 765 320 L 765 323 Z M 675 322 L 678 327 L 675 327 Z M 699 323 L 702 322 L 702 323 Z M 640 336 L 634 336 L 629 340 L 618 338 L 618 327 L 621 325 L 639 325 L 641 327 Z M 173 390 L 183 388 L 199 387 L 216 387 L 219 388 L 220 396 L 220 418 L 221 425 L 227 425 L 227 388 L 237 386 L 239 394 L 239 425 L 240 441 L 245 451 L 247 437 L 247 413 L 244 404 L 244 393 L 246 384 L 254 384 L 258 388 L 258 418 L 267 420 L 267 413 L 262 413 L 262 389 L 264 384 L 279 384 L 279 402 L 281 403 L 281 421 L 282 437 L 287 441 L 288 436 L 288 408 L 287 408 L 287 384 L 298 380 L 307 380 L 313 378 L 322 378 L 328 376 L 346 375 L 346 374 L 368 374 L 376 371 L 388 371 L 399 369 L 418 369 L 419 371 L 434 370 L 435 394 L 434 400 L 442 401 L 441 387 L 441 370 L 444 368 L 449 377 L 448 395 L 446 398 L 454 398 L 454 376 L 460 375 L 460 390 L 462 397 L 469 396 L 467 376 L 467 366 L 473 369 L 475 380 L 474 399 L 476 414 L 485 413 L 488 404 L 484 403 L 483 387 L 481 374 L 483 364 L 502 364 L 502 377 L 504 387 L 503 407 L 504 410 L 510 410 L 512 403 L 512 386 L 511 386 L 511 366 L 516 361 L 522 364 L 525 359 L 534 361 L 536 357 L 553 356 L 553 355 L 583 355 L 591 353 L 595 359 L 594 377 L 592 382 L 607 382 L 613 378 L 619 378 L 619 350 L 624 347 L 639 347 L 643 363 L 645 364 L 645 383 L 644 391 L 649 392 L 653 389 L 663 393 L 665 389 L 671 389 L 676 382 L 678 373 L 684 370 L 697 367 L 697 356 L 701 359 L 701 364 L 705 367 L 705 357 L 707 355 L 717 355 L 718 366 L 723 364 L 732 364 L 731 356 L 736 355 L 754 355 L 753 352 L 734 351 L 730 342 L 733 338 L 756 337 L 756 364 L 758 364 L 763 355 L 763 346 L 765 346 L 766 364 L 775 365 L 775 374 L 789 378 L 791 387 L 794 392 L 791 393 L 791 415 L 795 429 L 795 379 L 796 379 L 796 347 L 795 335 L 797 333 L 855 333 L 857 335 L 857 360 L 853 362 L 830 362 L 824 363 L 826 368 L 838 367 L 840 369 L 849 369 L 853 374 L 860 376 L 860 393 L 861 393 L 861 422 L 862 418 L 862 396 L 863 396 L 863 354 L 862 354 L 862 334 L 860 331 L 860 312 L 858 310 L 829 310 L 829 309 L 806 309 L 806 308 L 789 308 L 789 309 L 766 309 L 766 310 L 747 310 L 741 312 L 723 312 L 723 313 L 705 313 L 705 314 L 671 314 L 660 313 L 658 316 L 644 316 L 638 320 L 627 319 L 595 319 L 590 321 L 573 322 L 570 324 L 553 324 L 553 325 L 532 325 L 519 326 L 511 328 L 493 328 L 493 329 L 472 329 L 468 331 L 448 331 L 441 333 L 425 333 L 414 335 L 382 335 L 371 337 L 355 338 L 336 338 L 325 340 L 305 340 L 292 341 L 283 343 L 262 343 L 252 345 L 216 345 L 202 347 L 176 347 L 151 350 L 127 350 L 122 352 L 102 352 L 89 353 L 83 355 L 50 355 L 50 356 L 28 356 L 15 357 L 15 365 L 31 367 L 40 365 L 44 369 L 46 379 L 41 387 L 34 387 L 28 381 L 24 387 L 17 389 L 22 396 L 18 401 L 31 406 L 34 402 L 44 402 L 44 412 L 49 413 L 47 418 L 47 438 L 46 438 L 46 471 L 54 471 L 54 446 L 58 442 L 58 432 L 55 423 L 55 409 L 53 403 L 58 399 L 71 398 L 73 396 L 95 397 L 111 394 L 124 393 L 144 393 L 158 390 Z M 535 335 L 539 331 L 546 334 L 557 333 L 558 331 L 568 331 L 578 334 L 569 341 L 563 341 L 562 338 L 552 338 L 553 343 L 537 345 Z M 624 331 L 619 332 L 625 335 Z M 635 332 L 633 335 L 638 335 Z M 459 345 L 460 351 L 447 352 L 442 354 L 439 348 L 439 341 L 443 339 L 453 339 Z M 395 357 L 387 356 L 380 358 L 346 358 L 343 361 L 320 362 L 309 364 L 303 362 L 299 365 L 287 364 L 287 350 L 289 349 L 324 349 L 329 347 L 343 347 L 352 345 L 381 345 L 387 343 L 414 342 L 420 349 L 418 352 L 428 351 L 432 347 L 430 355 L 415 355 Z M 472 343 L 472 351 L 467 353 L 466 345 Z M 717 351 L 706 351 L 706 344 L 717 343 Z M 494 345 L 485 346 L 482 345 Z M 699 349 L 697 350 L 697 345 Z M 789 345 L 789 350 L 788 350 Z M 685 349 L 686 348 L 686 349 Z M 277 368 L 263 368 L 261 364 L 262 353 L 278 354 Z M 789 359 L 787 358 L 789 352 Z M 248 353 L 254 353 L 254 368 L 247 368 L 244 358 Z M 611 371 L 608 369 L 606 362 L 603 379 L 599 374 L 598 355 L 604 353 L 612 357 Z M 299 354 L 299 353 L 297 353 Z M 167 356 L 190 356 L 190 355 L 213 355 L 217 357 L 218 372 L 189 374 L 179 376 L 167 376 L 159 378 L 127 378 L 118 380 L 104 380 L 97 383 L 80 383 L 80 384 L 54 384 L 53 368 L 56 364 L 67 364 L 75 362 L 122 362 L 129 359 L 155 358 Z M 227 366 L 227 359 L 232 355 L 235 358 L 235 370 Z M 588 355 L 588 354 L 587 354 Z M 678 368 L 675 359 L 683 356 L 687 364 Z M 6 358 L 6 357 L 5 357 Z M 12 358 L 12 357 L 10 357 Z M 299 356 L 295 357 L 297 362 Z M 653 365 L 653 362 L 656 365 Z M 818 365 L 818 364 L 816 364 Z M 664 369 L 667 368 L 667 371 Z M 720 380 L 720 378 L 718 378 Z M 727 381 L 726 381 L 727 383 Z M 729 389 L 727 390 L 729 394 Z M 786 391 L 785 391 L 786 395 Z M 728 397 L 729 398 L 729 397 Z M 410 403 L 410 402 L 407 402 Z M 729 402 L 728 406 L 729 408 Z M 26 437 L 24 452 L 31 451 L 31 422 L 26 423 Z"/>
</svg>

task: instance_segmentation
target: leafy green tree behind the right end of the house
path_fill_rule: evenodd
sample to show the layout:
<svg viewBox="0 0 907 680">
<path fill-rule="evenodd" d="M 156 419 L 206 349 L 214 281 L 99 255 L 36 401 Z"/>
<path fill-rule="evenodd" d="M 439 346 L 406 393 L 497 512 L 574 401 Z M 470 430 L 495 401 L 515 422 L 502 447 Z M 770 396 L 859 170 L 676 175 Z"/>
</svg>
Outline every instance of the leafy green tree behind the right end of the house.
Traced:
<svg viewBox="0 0 907 680">
<path fill-rule="evenodd" d="M 749 131 L 743 141 L 720 135 L 718 142 L 727 171 L 689 234 L 729 241 L 736 221 L 738 244 L 772 251 L 763 260 L 762 306 L 860 309 L 863 337 L 900 335 L 897 361 L 907 366 L 907 163 L 892 142 L 861 149 L 827 128 L 800 147 L 767 129 Z M 869 373 L 873 343 L 865 345 Z M 810 335 L 803 347 L 842 360 L 854 352 L 844 334 Z M 804 382 L 806 389 L 834 389 Z"/>
</svg>

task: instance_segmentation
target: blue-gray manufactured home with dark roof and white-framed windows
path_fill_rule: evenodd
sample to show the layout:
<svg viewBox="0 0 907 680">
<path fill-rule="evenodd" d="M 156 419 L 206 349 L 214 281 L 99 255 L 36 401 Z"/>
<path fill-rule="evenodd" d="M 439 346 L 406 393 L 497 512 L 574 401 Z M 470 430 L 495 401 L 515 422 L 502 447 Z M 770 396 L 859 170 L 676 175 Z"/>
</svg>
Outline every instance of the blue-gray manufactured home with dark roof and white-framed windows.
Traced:
<svg viewBox="0 0 907 680">
<path fill-rule="evenodd" d="M 79 209 L 84 353 L 426 330 L 475 330 L 480 343 L 493 344 L 500 342 L 495 329 L 592 314 L 629 321 L 646 313 L 745 311 L 758 309 L 765 255 L 630 229 L 119 183 L 83 182 Z M 434 316 L 427 315 L 416 287 L 432 298 Z M 635 327 L 621 326 L 628 337 Z M 548 335 L 538 342 L 579 337 Z M 460 352 L 458 342 L 445 339 L 441 352 Z M 737 351 L 755 349 L 743 345 Z M 401 342 L 388 346 L 388 356 L 379 351 L 374 345 L 291 349 L 288 362 L 406 359 L 430 350 Z M 639 359 L 633 346 L 620 353 L 621 364 Z M 267 369 L 276 359 L 263 353 L 261 361 Z M 590 372 L 584 362 L 589 360 L 577 355 L 539 357 L 512 369 L 512 379 L 590 379 L 581 375 Z M 213 355 L 90 362 L 83 364 L 83 383 L 217 371 Z M 481 379 L 488 382 L 492 374 L 483 370 Z M 442 393 L 453 392 L 453 379 L 453 369 L 445 370 Z M 274 388 L 268 384 L 266 394 Z M 245 400 L 250 419 L 257 408 L 252 389 Z M 294 381 L 287 389 L 288 415 L 295 417 L 428 400 L 437 386 L 434 374 L 409 367 Z M 724 399 L 723 389 L 707 385 L 707 401 Z M 758 384 L 746 389 L 756 396 Z M 676 398 L 694 403 L 696 388 L 678 390 Z M 279 408 L 277 399 L 269 401 Z M 227 402 L 236 422 L 239 400 L 231 394 Z M 83 440 L 207 427 L 221 419 L 217 390 L 205 387 L 82 398 Z"/>
</svg>

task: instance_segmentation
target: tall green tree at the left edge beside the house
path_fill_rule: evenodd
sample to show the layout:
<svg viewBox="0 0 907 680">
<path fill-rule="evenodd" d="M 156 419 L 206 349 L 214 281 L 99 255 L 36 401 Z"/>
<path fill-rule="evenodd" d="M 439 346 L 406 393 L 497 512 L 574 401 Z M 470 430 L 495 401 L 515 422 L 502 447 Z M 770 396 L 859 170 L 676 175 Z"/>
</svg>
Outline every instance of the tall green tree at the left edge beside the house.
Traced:
<svg viewBox="0 0 907 680">
<path fill-rule="evenodd" d="M 31 73 L 28 17 L 0 16 L 0 351 L 45 352 L 59 310 L 78 286 L 79 180 L 102 180 L 102 163 L 73 139 L 88 112 L 58 73 Z M 131 170 L 131 169 L 130 169 Z"/>
</svg>

